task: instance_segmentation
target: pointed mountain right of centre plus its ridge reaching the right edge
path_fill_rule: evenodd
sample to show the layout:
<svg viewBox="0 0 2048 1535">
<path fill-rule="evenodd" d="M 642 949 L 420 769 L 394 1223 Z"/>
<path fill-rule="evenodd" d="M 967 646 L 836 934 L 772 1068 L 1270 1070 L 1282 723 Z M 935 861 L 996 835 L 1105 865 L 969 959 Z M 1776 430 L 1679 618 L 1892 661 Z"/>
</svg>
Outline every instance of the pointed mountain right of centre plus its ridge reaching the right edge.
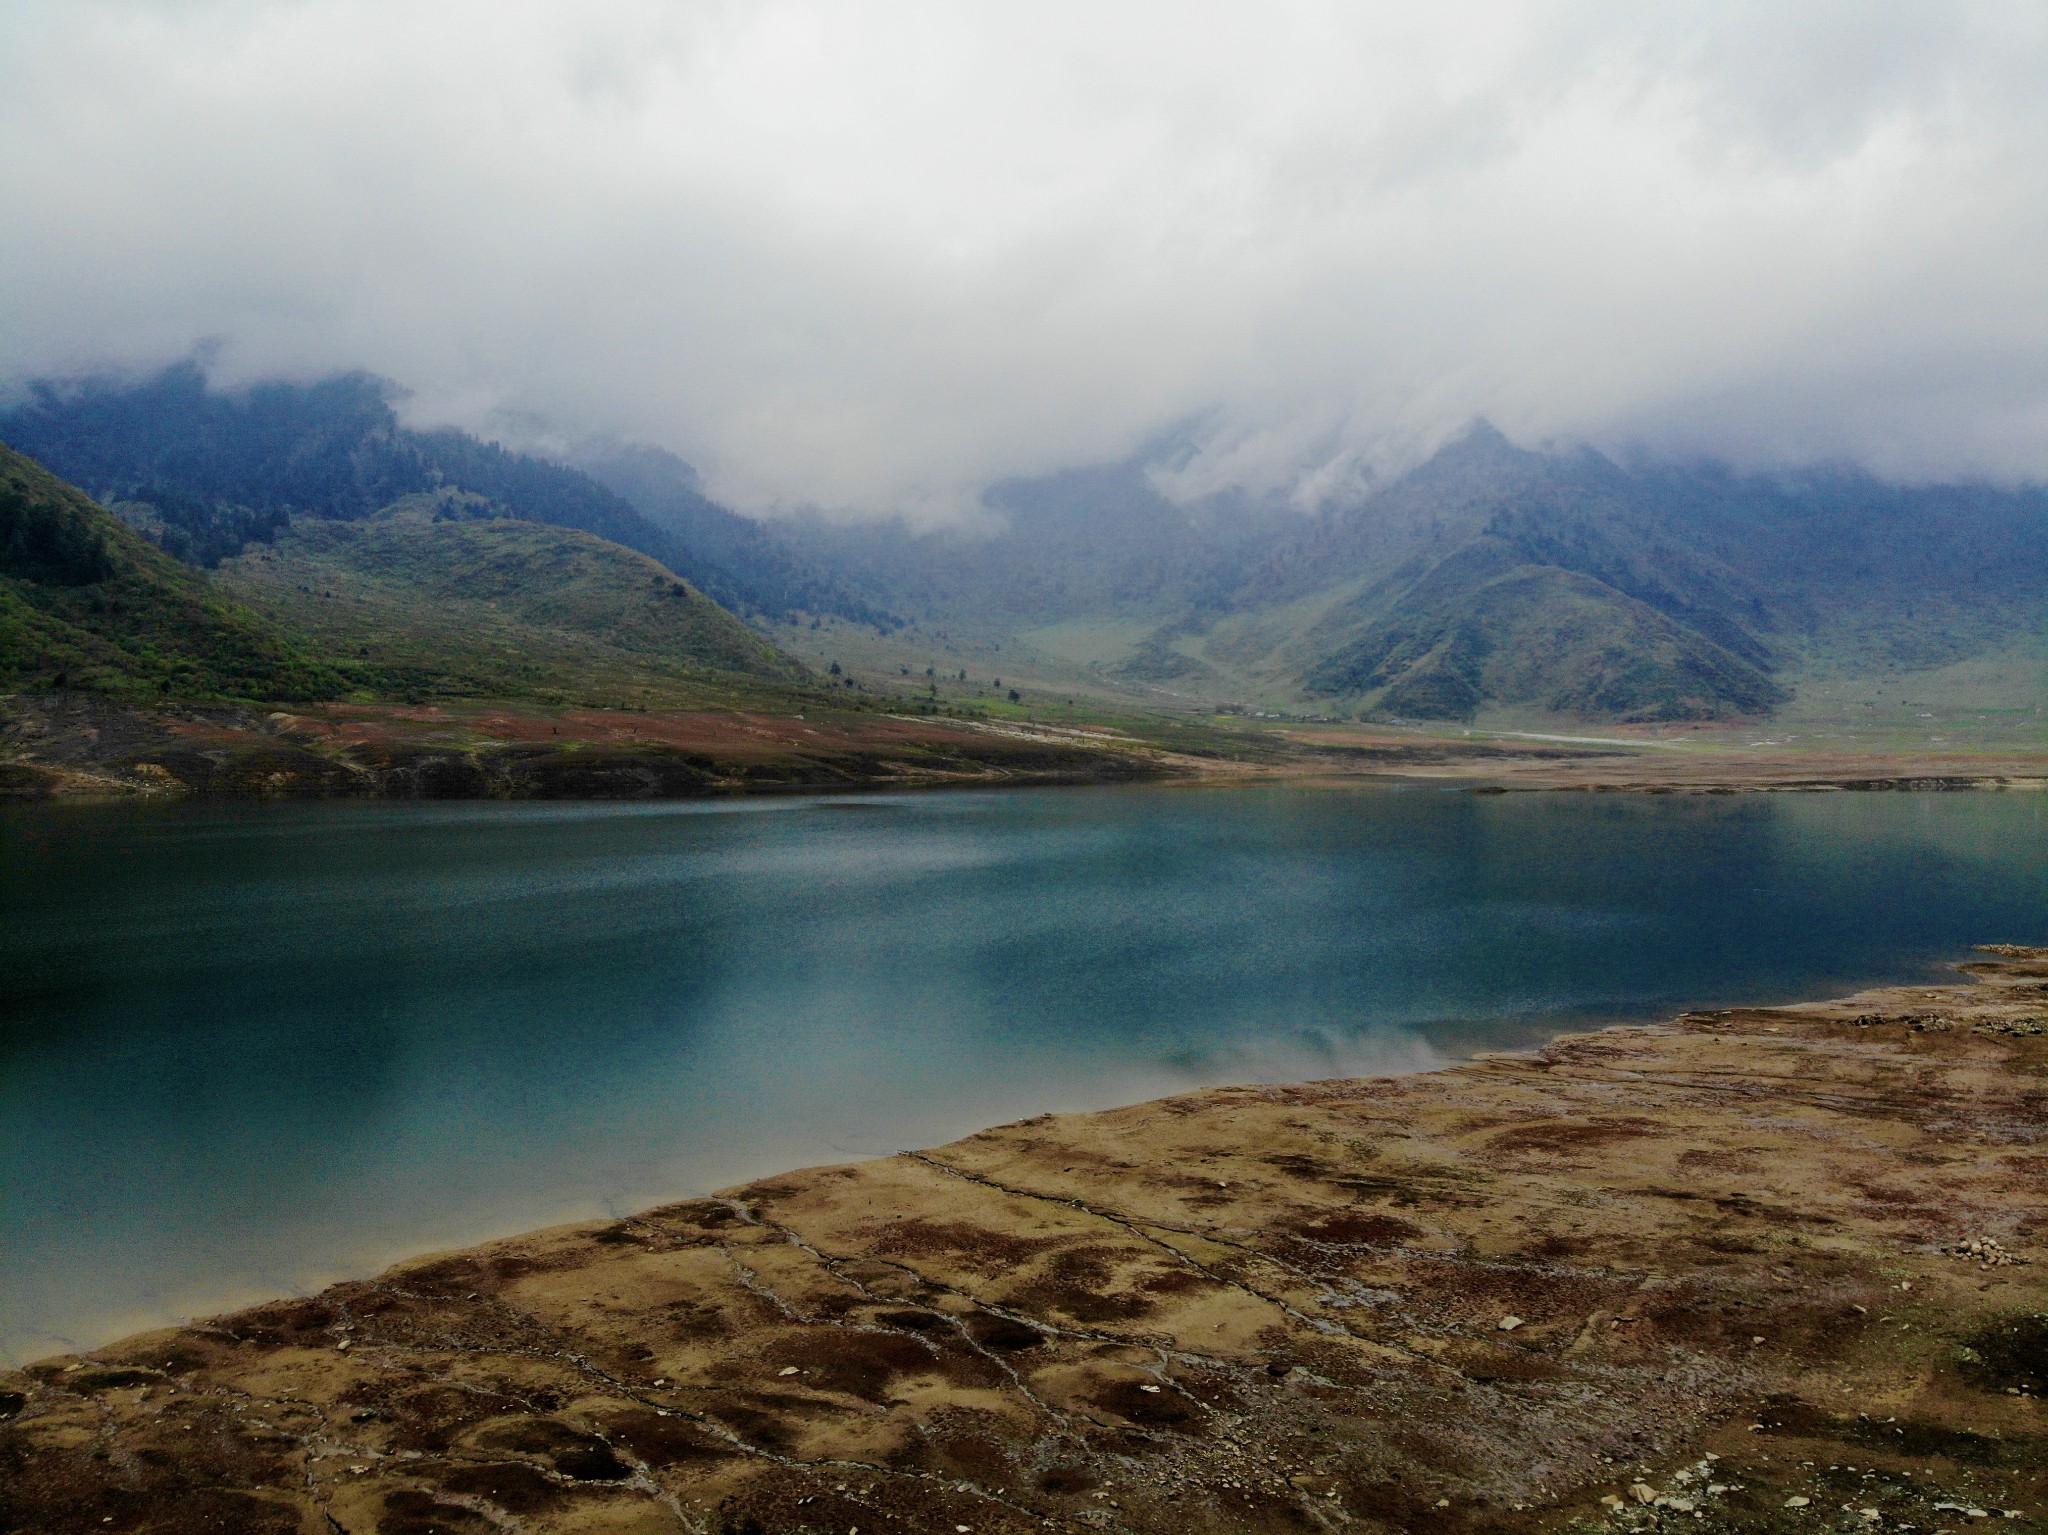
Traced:
<svg viewBox="0 0 2048 1535">
<path fill-rule="evenodd" d="M 1950 663 L 2040 637 L 2048 495 L 1868 475 L 1622 469 L 1481 430 L 1274 551 L 1376 575 L 1311 628 L 1309 694 L 1470 718 L 1489 702 L 1620 720 L 1765 714 L 1778 673 Z"/>
</svg>

